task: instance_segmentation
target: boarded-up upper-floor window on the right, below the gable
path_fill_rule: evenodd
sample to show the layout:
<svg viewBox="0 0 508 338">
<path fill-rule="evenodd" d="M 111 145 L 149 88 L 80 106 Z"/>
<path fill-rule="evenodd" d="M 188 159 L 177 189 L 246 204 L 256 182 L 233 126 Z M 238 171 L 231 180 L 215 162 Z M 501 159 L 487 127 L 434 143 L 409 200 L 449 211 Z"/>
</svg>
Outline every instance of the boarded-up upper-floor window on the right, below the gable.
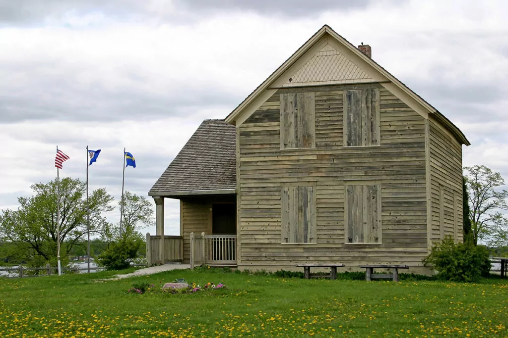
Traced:
<svg viewBox="0 0 508 338">
<path fill-rule="evenodd" d="M 344 91 L 344 145 L 379 145 L 379 90 Z"/>
</svg>

